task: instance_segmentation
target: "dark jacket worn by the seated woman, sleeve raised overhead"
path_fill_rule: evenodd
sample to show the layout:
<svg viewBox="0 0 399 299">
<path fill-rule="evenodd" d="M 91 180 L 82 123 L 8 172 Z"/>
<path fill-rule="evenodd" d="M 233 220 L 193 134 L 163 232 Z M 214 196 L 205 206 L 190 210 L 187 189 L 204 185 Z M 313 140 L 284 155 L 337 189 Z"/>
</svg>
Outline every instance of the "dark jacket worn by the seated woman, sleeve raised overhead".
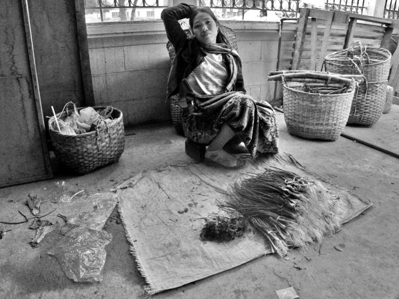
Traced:
<svg viewBox="0 0 399 299">
<path fill-rule="evenodd" d="M 166 34 L 175 48 L 176 56 L 172 62 L 171 71 L 168 78 L 167 98 L 171 95 L 180 93 L 180 83 L 202 62 L 206 54 L 200 48 L 200 43 L 196 38 L 188 38 L 182 29 L 179 20 L 190 17 L 193 5 L 185 3 L 165 8 L 161 13 L 164 21 Z M 221 41 L 217 41 L 221 42 Z M 234 85 L 235 91 L 243 91 L 244 80 L 242 78 L 241 62 L 236 59 L 238 74 Z"/>
</svg>

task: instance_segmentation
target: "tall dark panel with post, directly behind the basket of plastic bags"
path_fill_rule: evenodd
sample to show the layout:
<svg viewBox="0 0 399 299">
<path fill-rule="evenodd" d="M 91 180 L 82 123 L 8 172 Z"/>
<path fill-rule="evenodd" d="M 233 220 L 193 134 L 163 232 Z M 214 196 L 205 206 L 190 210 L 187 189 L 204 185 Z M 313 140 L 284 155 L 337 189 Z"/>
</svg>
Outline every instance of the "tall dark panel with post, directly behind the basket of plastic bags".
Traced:
<svg viewBox="0 0 399 299">
<path fill-rule="evenodd" d="M 84 90 L 88 82 L 82 78 L 81 59 L 85 56 L 78 40 L 75 1 L 61 0 L 57 5 L 52 0 L 29 0 L 28 3 L 44 116 L 52 116 L 51 106 L 61 112 L 69 101 L 77 106 L 90 105 Z M 80 17 L 84 22 L 84 15 L 80 13 Z"/>
</svg>

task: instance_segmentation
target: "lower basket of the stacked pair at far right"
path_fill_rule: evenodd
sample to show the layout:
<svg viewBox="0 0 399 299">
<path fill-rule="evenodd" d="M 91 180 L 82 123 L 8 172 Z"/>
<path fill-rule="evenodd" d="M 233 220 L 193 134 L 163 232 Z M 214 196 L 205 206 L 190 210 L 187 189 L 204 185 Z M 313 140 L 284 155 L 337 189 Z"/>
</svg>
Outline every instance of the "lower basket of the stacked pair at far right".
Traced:
<svg viewBox="0 0 399 299">
<path fill-rule="evenodd" d="M 383 114 L 388 81 L 361 82 L 352 101 L 348 124 L 372 126 Z"/>
</svg>

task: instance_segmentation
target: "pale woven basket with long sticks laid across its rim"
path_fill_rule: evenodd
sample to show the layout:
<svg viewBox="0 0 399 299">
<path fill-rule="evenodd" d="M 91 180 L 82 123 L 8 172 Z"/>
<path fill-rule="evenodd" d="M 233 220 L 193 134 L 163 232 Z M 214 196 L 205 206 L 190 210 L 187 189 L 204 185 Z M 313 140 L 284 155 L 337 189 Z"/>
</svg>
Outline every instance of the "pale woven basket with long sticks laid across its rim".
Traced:
<svg viewBox="0 0 399 299">
<path fill-rule="evenodd" d="M 303 83 L 286 82 L 284 78 L 282 84 L 284 120 L 288 132 L 306 139 L 337 140 L 348 121 L 355 80 L 342 85 L 347 89 L 339 94 L 302 91 Z M 311 83 L 308 85 L 312 86 Z"/>
</svg>

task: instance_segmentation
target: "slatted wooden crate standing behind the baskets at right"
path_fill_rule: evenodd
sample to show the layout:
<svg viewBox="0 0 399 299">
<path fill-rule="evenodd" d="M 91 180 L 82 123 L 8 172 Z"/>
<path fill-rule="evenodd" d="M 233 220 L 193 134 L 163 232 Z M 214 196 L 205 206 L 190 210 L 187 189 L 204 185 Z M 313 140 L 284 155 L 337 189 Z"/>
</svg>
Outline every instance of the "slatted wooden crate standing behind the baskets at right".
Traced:
<svg viewBox="0 0 399 299">
<path fill-rule="evenodd" d="M 290 47 L 287 50 L 287 45 L 280 45 L 276 70 L 320 71 L 327 54 L 356 46 L 358 42 L 392 48 L 390 43 L 395 28 L 399 28 L 399 20 L 396 19 L 301 8 L 293 50 Z M 398 89 L 399 47 L 393 52 L 389 85 Z"/>
</svg>

